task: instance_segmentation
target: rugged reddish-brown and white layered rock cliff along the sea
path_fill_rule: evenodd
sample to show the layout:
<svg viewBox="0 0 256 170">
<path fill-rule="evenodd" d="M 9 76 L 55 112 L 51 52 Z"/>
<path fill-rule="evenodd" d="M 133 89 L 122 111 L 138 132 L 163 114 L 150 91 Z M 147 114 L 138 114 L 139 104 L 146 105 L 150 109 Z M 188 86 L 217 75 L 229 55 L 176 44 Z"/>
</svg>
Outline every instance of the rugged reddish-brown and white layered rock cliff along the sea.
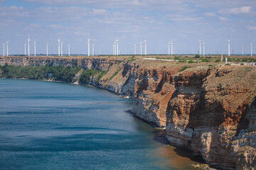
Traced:
<svg viewBox="0 0 256 170">
<path fill-rule="evenodd" d="M 90 84 L 134 99 L 132 113 L 164 128 L 172 145 L 219 169 L 256 169 L 256 70 L 201 67 L 132 57 L 0 57 L 0 65 L 63 65 L 107 70 Z"/>
</svg>

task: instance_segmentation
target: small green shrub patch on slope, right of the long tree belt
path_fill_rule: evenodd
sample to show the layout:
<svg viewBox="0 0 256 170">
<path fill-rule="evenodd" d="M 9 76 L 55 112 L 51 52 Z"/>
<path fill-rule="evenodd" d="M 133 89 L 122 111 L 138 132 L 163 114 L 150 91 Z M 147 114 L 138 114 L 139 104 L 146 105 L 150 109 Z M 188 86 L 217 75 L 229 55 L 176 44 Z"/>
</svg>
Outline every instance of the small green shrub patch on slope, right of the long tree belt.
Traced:
<svg viewBox="0 0 256 170">
<path fill-rule="evenodd" d="M 100 83 L 100 79 L 107 74 L 107 71 L 100 71 L 97 69 L 85 69 L 82 71 L 82 74 L 80 75 L 80 83 L 81 84 L 89 84 L 91 77 L 96 77 L 96 83 Z"/>
</svg>

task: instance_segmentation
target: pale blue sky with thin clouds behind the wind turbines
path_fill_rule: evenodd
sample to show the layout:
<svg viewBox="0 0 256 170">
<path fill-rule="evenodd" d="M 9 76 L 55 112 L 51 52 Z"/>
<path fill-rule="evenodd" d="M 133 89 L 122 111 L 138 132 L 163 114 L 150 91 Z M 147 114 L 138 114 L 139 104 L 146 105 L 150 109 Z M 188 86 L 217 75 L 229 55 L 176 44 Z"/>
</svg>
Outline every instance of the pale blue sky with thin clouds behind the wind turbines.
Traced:
<svg viewBox="0 0 256 170">
<path fill-rule="evenodd" d="M 167 54 L 174 40 L 174 53 L 197 54 L 199 40 L 206 54 L 256 53 L 255 0 L 0 0 L 0 55 L 9 40 L 12 55 L 23 55 L 24 44 L 36 40 L 36 53 L 87 54 L 87 39 L 95 55 L 111 55 L 119 39 L 120 54 L 140 53 L 147 40 L 148 54 Z M 26 48 L 28 45 L 26 45 Z M 91 46 L 92 47 L 92 46 Z M 203 48 L 203 47 L 202 47 Z M 28 49 L 26 49 L 28 52 Z"/>
</svg>

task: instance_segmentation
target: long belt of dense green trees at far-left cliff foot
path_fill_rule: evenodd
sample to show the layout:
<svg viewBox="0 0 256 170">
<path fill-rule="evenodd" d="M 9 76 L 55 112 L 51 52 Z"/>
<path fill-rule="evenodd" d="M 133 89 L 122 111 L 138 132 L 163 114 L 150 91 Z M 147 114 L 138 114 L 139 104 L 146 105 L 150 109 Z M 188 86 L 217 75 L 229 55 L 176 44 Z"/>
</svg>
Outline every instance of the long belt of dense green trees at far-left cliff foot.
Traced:
<svg viewBox="0 0 256 170">
<path fill-rule="evenodd" d="M 1 67 L 1 77 L 12 79 L 52 79 L 54 81 L 73 82 L 80 67 L 63 66 L 14 66 L 5 64 Z"/>
</svg>

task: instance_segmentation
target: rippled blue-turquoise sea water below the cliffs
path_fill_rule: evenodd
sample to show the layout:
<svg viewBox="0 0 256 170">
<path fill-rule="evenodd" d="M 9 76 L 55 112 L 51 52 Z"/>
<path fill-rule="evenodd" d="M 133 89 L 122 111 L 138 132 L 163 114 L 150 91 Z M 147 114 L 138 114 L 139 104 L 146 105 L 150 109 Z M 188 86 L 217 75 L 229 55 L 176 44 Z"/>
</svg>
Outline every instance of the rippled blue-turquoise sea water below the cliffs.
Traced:
<svg viewBox="0 0 256 170">
<path fill-rule="evenodd" d="M 0 169 L 183 169 L 132 100 L 90 86 L 0 79 Z"/>
</svg>

